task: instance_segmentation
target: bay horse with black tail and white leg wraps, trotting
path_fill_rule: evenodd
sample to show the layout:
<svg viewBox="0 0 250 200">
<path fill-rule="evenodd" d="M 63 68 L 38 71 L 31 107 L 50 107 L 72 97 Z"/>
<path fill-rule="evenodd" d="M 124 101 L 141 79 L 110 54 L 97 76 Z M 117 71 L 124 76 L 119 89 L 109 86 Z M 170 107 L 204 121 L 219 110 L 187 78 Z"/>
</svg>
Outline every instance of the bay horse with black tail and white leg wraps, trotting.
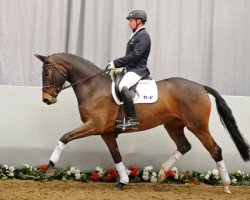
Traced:
<svg viewBox="0 0 250 200">
<path fill-rule="evenodd" d="M 68 81 L 73 87 L 83 125 L 64 134 L 56 145 L 48 164 L 52 169 L 57 163 L 65 145 L 75 139 L 90 135 L 100 135 L 106 143 L 120 180 L 115 188 L 122 189 L 129 183 L 122 157 L 116 142 L 115 121 L 119 106 L 111 94 L 110 76 L 93 63 L 78 56 L 66 53 L 50 56 L 35 55 L 43 62 L 43 102 L 56 103 L 58 94 L 67 87 Z M 250 160 L 250 147 L 240 133 L 235 118 L 225 100 L 214 89 L 183 79 L 169 78 L 157 82 L 158 100 L 151 104 L 136 104 L 139 122 L 138 130 L 143 131 L 158 125 L 164 125 L 177 150 L 161 166 L 158 181 L 166 179 L 165 172 L 191 149 L 184 134 L 187 127 L 208 150 L 216 162 L 224 185 L 224 191 L 230 193 L 230 178 L 222 158 L 222 150 L 209 131 L 211 102 L 208 94 L 215 98 L 217 111 L 222 124 L 228 130 L 242 159 Z M 133 132 L 135 130 L 129 130 Z"/>
</svg>

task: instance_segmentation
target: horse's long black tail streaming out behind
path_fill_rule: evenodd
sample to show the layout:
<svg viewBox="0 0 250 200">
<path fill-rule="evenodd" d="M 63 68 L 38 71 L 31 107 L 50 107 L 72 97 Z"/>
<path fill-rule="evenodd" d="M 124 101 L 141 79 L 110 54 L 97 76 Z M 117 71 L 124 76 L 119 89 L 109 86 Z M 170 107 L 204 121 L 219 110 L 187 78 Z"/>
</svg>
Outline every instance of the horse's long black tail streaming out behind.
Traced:
<svg viewBox="0 0 250 200">
<path fill-rule="evenodd" d="M 204 86 L 207 93 L 215 97 L 217 111 L 220 116 L 220 120 L 224 127 L 228 130 L 232 140 L 234 141 L 240 155 L 244 161 L 250 160 L 250 146 L 244 137 L 241 135 L 237 123 L 234 119 L 231 109 L 228 107 L 226 101 L 221 95 L 213 88 Z"/>
</svg>

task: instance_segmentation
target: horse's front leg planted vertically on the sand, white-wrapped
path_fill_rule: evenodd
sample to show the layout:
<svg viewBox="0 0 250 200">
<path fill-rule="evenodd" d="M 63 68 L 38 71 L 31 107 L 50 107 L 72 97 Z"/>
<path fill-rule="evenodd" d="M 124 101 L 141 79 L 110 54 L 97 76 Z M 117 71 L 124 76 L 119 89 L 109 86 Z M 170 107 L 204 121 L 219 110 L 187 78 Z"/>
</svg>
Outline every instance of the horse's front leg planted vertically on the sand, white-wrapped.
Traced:
<svg viewBox="0 0 250 200">
<path fill-rule="evenodd" d="M 101 137 L 109 148 L 109 151 L 115 162 L 115 167 L 120 177 L 120 181 L 115 185 L 115 188 L 122 189 L 124 185 L 129 183 L 129 177 L 122 162 L 122 156 L 119 152 L 119 148 L 115 139 L 115 134 L 101 135 Z"/>
</svg>

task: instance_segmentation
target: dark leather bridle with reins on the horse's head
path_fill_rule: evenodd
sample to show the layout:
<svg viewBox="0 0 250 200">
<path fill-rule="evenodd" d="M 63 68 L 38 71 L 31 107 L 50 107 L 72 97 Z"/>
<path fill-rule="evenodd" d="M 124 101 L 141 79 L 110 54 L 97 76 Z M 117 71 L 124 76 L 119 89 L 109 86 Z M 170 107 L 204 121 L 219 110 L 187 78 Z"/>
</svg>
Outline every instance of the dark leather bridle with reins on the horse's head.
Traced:
<svg viewBox="0 0 250 200">
<path fill-rule="evenodd" d="M 50 59 L 51 59 L 51 58 L 50 58 Z M 78 81 L 78 82 L 76 82 L 76 83 L 72 83 L 72 84 L 67 85 L 67 86 L 58 87 L 58 86 L 56 86 L 56 73 L 55 73 L 55 71 L 59 72 L 59 74 L 64 78 L 65 81 L 67 80 L 67 76 L 66 76 L 63 72 L 61 72 L 61 71 L 54 65 L 54 63 L 53 63 L 52 61 L 51 61 L 50 63 L 48 63 L 48 64 L 44 64 L 44 65 L 43 65 L 43 68 L 44 68 L 44 67 L 50 67 L 50 68 L 51 68 L 51 71 L 52 71 L 52 82 L 53 82 L 53 83 L 52 83 L 52 84 L 49 84 L 49 85 L 43 85 L 42 91 L 48 93 L 49 95 L 51 95 L 51 96 L 54 97 L 54 98 L 56 98 L 56 97 L 58 96 L 58 94 L 59 94 L 62 90 L 65 90 L 65 89 L 67 89 L 67 88 L 73 87 L 73 86 L 75 86 L 75 85 L 77 85 L 77 84 L 79 84 L 79 83 L 83 83 L 83 82 L 85 82 L 85 81 L 88 81 L 88 80 L 90 80 L 90 79 L 92 79 L 92 78 L 94 78 L 94 77 L 96 77 L 96 76 L 98 76 L 98 75 L 100 75 L 100 74 L 103 74 L 103 73 L 105 73 L 105 72 L 110 72 L 110 70 L 111 70 L 111 69 L 108 69 L 108 66 L 107 66 L 107 67 L 105 68 L 105 70 L 103 70 L 103 71 L 101 71 L 101 72 L 99 72 L 99 73 L 97 73 L 97 74 L 95 74 L 95 75 L 93 75 L 93 76 L 87 77 L 87 78 L 85 78 L 85 79 L 83 79 L 83 80 L 80 80 L 80 81 Z M 55 91 L 54 91 L 53 93 L 49 93 L 48 91 L 46 91 L 46 88 L 54 88 Z"/>
</svg>

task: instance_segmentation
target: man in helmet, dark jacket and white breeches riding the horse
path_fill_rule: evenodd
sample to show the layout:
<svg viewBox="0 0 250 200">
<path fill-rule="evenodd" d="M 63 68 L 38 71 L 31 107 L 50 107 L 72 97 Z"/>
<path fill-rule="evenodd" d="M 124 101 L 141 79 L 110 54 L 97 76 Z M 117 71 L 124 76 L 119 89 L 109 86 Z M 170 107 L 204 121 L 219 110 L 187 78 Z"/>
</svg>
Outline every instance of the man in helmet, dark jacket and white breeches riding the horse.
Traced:
<svg viewBox="0 0 250 200">
<path fill-rule="evenodd" d="M 110 61 L 108 69 L 125 68 L 125 75 L 119 84 L 119 91 L 124 102 L 125 112 L 128 116 L 128 121 L 124 126 L 126 129 L 137 129 L 138 122 L 135 106 L 132 97 L 129 95 L 129 88 L 150 74 L 147 68 L 147 60 L 150 53 L 151 40 L 144 27 L 147 21 L 145 11 L 133 10 L 127 16 L 127 20 L 129 20 L 128 25 L 133 33 L 127 43 L 126 55 Z M 123 125 L 118 125 L 117 127 L 122 128 Z"/>
</svg>

